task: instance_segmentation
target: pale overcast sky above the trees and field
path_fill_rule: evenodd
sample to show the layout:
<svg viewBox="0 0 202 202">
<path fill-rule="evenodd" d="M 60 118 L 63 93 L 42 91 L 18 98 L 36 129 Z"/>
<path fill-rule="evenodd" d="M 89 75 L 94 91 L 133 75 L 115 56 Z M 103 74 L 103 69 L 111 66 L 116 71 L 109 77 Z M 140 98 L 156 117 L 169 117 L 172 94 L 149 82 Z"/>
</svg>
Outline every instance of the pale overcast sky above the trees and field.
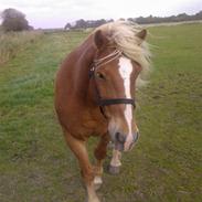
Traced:
<svg viewBox="0 0 202 202">
<path fill-rule="evenodd" d="M 202 10 L 202 0 L 0 0 L 0 11 L 8 8 L 23 12 L 30 25 L 38 29 L 64 28 L 78 19 L 194 14 Z"/>
</svg>

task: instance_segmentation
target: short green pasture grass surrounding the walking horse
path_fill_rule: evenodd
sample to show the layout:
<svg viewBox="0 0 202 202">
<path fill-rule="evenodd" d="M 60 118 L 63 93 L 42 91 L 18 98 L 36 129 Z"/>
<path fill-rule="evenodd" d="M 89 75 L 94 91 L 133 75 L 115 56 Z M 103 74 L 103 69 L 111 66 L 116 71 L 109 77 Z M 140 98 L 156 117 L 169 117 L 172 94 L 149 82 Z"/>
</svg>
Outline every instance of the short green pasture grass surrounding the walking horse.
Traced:
<svg viewBox="0 0 202 202">
<path fill-rule="evenodd" d="M 102 202 L 202 201 L 202 25 L 149 28 L 153 72 L 138 92 L 141 137 Z M 53 107 L 55 72 L 83 32 L 44 34 L 0 67 L 0 202 L 83 202 Z M 96 140 L 89 141 L 89 150 Z M 92 157 L 92 155 L 91 155 Z M 110 152 L 105 161 L 109 163 Z"/>
</svg>

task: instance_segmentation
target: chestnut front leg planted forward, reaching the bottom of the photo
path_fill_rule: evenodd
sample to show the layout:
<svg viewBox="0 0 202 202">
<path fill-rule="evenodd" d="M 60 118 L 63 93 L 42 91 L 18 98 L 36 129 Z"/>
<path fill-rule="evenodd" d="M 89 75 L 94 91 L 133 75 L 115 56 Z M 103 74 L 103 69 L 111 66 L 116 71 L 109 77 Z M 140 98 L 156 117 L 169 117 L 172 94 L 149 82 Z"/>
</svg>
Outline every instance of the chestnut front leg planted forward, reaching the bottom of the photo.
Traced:
<svg viewBox="0 0 202 202">
<path fill-rule="evenodd" d="M 99 202 L 97 194 L 95 192 L 95 187 L 94 187 L 95 173 L 88 159 L 85 141 L 74 138 L 68 132 L 65 132 L 65 139 L 71 150 L 74 152 L 74 155 L 78 159 L 79 167 L 82 169 L 82 177 L 84 179 L 84 182 L 87 189 L 87 196 L 88 196 L 87 201 Z"/>
</svg>

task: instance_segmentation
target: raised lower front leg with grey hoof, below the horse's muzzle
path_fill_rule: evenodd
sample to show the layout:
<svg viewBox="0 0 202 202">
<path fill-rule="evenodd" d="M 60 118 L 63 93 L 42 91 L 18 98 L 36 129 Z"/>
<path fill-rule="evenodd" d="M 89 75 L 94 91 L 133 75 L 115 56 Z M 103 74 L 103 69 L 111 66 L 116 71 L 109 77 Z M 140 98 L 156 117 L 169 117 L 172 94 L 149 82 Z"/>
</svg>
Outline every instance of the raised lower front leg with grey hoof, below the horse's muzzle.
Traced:
<svg viewBox="0 0 202 202">
<path fill-rule="evenodd" d="M 109 172 L 111 174 L 119 173 L 120 166 L 121 166 L 120 159 L 121 159 L 121 152 L 116 149 L 113 149 L 113 158 L 111 158 L 110 164 L 109 164 Z"/>
</svg>

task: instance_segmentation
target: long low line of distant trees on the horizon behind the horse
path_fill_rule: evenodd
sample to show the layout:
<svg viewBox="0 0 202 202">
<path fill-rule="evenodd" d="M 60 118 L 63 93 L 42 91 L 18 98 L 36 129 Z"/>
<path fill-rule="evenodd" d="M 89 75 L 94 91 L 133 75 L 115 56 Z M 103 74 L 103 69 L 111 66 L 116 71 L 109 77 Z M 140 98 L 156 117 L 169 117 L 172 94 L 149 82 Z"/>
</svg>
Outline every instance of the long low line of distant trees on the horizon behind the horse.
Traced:
<svg viewBox="0 0 202 202">
<path fill-rule="evenodd" d="M 181 21 L 192 21 L 192 20 L 202 20 L 202 11 L 189 15 L 187 13 L 180 13 L 178 15 L 171 15 L 171 17 L 139 17 L 139 18 L 128 18 L 128 19 L 120 19 L 120 20 L 128 20 L 132 21 L 139 24 L 149 24 L 149 23 L 163 23 L 163 22 L 181 22 Z M 79 19 L 75 21 L 74 23 L 66 23 L 65 28 L 66 30 L 70 29 L 87 29 L 87 28 L 97 28 L 102 24 L 105 24 L 107 22 L 113 22 L 114 20 L 84 20 Z"/>
</svg>

